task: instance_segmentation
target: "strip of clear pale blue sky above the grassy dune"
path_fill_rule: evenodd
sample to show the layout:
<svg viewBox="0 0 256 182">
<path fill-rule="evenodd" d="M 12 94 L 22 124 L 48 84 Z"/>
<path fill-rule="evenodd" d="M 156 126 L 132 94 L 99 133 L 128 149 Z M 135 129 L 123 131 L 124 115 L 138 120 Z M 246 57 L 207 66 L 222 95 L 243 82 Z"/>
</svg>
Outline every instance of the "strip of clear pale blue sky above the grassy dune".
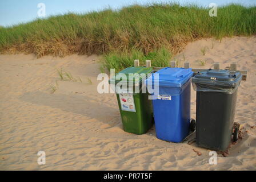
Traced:
<svg viewBox="0 0 256 182">
<path fill-rule="evenodd" d="M 102 10 L 106 7 L 119 9 L 125 5 L 133 3 L 145 4 L 148 2 L 169 2 L 170 0 L 0 0 L 0 26 L 11 26 L 13 24 L 29 22 L 37 18 L 39 10 L 38 3 L 45 3 L 46 17 L 54 14 L 67 13 L 73 11 L 77 13 L 86 13 L 91 10 Z M 186 3 L 197 3 L 202 6 L 209 6 L 210 3 L 216 3 L 217 6 L 227 3 L 241 3 L 242 5 L 256 5 L 256 0 L 175 0 L 181 5 Z"/>
</svg>

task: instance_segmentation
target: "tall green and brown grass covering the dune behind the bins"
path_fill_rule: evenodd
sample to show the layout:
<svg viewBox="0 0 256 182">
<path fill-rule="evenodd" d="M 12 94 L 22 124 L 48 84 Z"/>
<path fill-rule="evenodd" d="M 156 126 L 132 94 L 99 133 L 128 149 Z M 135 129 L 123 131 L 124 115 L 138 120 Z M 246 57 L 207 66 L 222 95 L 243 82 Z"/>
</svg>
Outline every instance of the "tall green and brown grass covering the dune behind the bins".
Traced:
<svg viewBox="0 0 256 182">
<path fill-rule="evenodd" d="M 255 34 L 255 6 L 222 6 L 217 17 L 210 17 L 208 8 L 196 5 L 133 5 L 2 27 L 0 52 L 35 53 L 38 57 L 105 54 L 107 68 L 122 68 L 133 64 L 130 59 L 139 59 L 134 56 L 144 59 L 161 54 L 163 49 L 174 55 L 187 42 L 200 38 Z M 166 56 L 164 60 L 155 59 L 153 65 L 165 65 Z"/>
</svg>

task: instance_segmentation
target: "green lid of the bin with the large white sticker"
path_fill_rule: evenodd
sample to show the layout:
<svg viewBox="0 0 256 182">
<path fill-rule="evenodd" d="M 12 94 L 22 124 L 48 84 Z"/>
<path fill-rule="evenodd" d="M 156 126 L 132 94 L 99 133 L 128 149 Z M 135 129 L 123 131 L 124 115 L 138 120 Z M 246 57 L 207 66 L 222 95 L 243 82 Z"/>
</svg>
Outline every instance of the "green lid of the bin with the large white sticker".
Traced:
<svg viewBox="0 0 256 182">
<path fill-rule="evenodd" d="M 128 84 L 128 82 L 131 81 L 131 82 L 133 82 L 133 84 L 138 85 L 138 84 L 141 84 L 141 82 L 147 78 L 147 73 L 151 73 L 151 72 L 153 72 L 153 68 L 129 67 L 129 68 L 123 69 L 121 72 L 117 73 L 114 78 L 110 78 L 109 82 L 117 84 L 118 82 L 123 81 L 123 82 L 127 82 L 127 84 Z M 122 78 L 117 77 L 120 73 L 123 73 L 126 75 L 125 80 L 122 80 Z M 139 77 L 130 77 L 129 78 L 129 73 L 138 73 Z M 142 73 L 145 73 L 145 74 L 142 74 Z"/>
</svg>

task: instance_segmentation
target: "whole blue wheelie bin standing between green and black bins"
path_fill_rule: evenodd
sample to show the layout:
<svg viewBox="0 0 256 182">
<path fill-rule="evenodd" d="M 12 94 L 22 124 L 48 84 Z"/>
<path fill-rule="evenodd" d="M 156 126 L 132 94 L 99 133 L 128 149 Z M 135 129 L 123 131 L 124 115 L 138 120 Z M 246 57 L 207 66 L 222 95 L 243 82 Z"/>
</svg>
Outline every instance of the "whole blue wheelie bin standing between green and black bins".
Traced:
<svg viewBox="0 0 256 182">
<path fill-rule="evenodd" d="M 153 100 L 157 138 L 182 142 L 190 131 L 190 82 L 192 69 L 163 68 L 145 80 L 154 88 L 155 74 L 159 75 L 159 93 Z"/>
</svg>

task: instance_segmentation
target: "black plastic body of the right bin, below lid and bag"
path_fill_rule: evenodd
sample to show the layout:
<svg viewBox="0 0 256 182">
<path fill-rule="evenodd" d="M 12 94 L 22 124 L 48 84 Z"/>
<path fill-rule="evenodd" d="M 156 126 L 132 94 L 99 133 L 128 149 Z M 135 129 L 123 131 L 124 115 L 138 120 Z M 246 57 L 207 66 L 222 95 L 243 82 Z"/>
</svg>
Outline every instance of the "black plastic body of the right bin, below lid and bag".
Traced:
<svg viewBox="0 0 256 182">
<path fill-rule="evenodd" d="M 238 90 L 238 89 L 237 89 Z M 237 92 L 197 92 L 197 145 L 225 151 L 231 142 Z"/>
</svg>

